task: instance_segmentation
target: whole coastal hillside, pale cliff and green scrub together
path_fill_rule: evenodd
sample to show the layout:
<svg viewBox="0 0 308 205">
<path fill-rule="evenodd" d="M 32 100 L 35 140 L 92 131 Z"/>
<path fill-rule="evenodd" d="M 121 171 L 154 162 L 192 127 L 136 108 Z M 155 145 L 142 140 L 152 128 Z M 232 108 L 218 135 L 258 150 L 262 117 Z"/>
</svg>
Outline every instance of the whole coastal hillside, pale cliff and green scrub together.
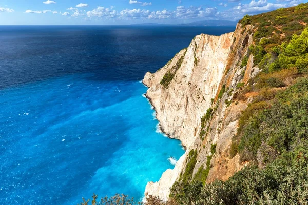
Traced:
<svg viewBox="0 0 308 205">
<path fill-rule="evenodd" d="M 246 15 L 146 73 L 162 131 L 186 148 L 147 204 L 308 204 L 307 16 Z"/>
</svg>

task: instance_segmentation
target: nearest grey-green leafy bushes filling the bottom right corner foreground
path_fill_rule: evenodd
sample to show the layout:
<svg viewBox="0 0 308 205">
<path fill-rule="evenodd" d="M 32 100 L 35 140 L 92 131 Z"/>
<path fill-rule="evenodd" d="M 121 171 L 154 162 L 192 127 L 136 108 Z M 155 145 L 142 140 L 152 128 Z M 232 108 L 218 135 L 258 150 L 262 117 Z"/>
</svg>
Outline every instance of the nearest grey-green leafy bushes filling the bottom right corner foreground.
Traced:
<svg viewBox="0 0 308 205">
<path fill-rule="evenodd" d="M 264 169 L 248 166 L 225 182 L 176 182 L 170 197 L 177 204 L 307 204 L 307 167 L 303 142 Z"/>
</svg>

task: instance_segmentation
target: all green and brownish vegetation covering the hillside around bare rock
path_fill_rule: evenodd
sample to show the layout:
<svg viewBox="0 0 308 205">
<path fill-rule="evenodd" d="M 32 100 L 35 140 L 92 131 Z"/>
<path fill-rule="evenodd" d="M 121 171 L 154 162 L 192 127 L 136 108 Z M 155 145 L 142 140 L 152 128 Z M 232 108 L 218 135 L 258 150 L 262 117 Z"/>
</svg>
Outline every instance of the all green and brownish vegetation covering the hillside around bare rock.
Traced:
<svg viewBox="0 0 308 205">
<path fill-rule="evenodd" d="M 193 176 L 197 150 L 191 150 L 185 172 L 171 188 L 169 201 L 150 197 L 148 205 L 308 204 L 307 16 L 308 3 L 305 3 L 256 16 L 246 15 L 240 21 L 244 29 L 248 25 L 254 29 L 254 43 L 248 53 L 253 54 L 255 66 L 262 69 L 246 86 L 239 83 L 233 94 L 236 103 L 246 100 L 246 94 L 254 96 L 239 117 L 229 153 L 230 157 L 239 154 L 242 162 L 249 161 L 248 166 L 224 182 L 207 184 L 211 156 L 207 156 L 206 165 Z M 244 57 L 241 66 L 246 65 Z M 172 74 L 175 72 L 168 75 Z M 218 99 L 226 91 L 223 85 Z M 232 93 L 230 90 L 228 96 Z M 218 105 L 209 108 L 201 118 L 200 135 L 206 133 L 203 130 L 206 122 L 217 108 Z M 211 145 L 211 153 L 215 152 L 216 144 Z"/>
</svg>

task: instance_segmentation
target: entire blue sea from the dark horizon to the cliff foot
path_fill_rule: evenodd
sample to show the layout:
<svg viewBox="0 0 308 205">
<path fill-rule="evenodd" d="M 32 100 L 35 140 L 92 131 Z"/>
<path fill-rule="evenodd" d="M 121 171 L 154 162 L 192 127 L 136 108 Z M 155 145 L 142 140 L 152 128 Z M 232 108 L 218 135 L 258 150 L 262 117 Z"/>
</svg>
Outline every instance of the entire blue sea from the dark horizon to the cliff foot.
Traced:
<svg viewBox="0 0 308 205">
<path fill-rule="evenodd" d="M 140 81 L 195 35 L 234 29 L 0 26 L 0 203 L 140 200 L 184 154 Z"/>
</svg>

